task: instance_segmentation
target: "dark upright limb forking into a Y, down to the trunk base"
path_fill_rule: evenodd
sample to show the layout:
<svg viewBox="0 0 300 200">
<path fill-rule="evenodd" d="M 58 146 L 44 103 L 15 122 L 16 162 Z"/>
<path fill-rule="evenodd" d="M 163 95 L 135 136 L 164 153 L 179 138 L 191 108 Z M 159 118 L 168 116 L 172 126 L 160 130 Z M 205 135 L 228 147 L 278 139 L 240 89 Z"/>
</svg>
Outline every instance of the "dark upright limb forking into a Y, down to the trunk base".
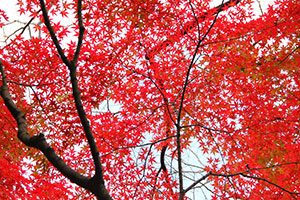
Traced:
<svg viewBox="0 0 300 200">
<path fill-rule="evenodd" d="M 85 136 L 87 138 L 90 151 L 92 153 L 92 158 L 95 166 L 95 175 L 91 179 L 91 181 L 88 184 L 88 187 L 86 189 L 90 190 L 93 194 L 98 199 L 111 199 L 108 191 L 106 190 L 104 186 L 104 178 L 103 178 L 103 169 L 102 169 L 102 164 L 100 161 L 100 156 L 99 156 L 99 151 L 94 139 L 94 136 L 92 134 L 92 130 L 88 121 L 88 118 L 86 116 L 85 110 L 83 108 L 83 104 L 81 101 L 81 96 L 80 96 L 80 91 L 79 91 L 79 86 L 78 86 L 78 81 L 77 81 L 77 75 L 76 75 L 76 63 L 80 55 L 80 50 L 82 46 L 82 41 L 84 37 L 84 31 L 85 28 L 83 26 L 82 22 L 82 13 L 81 13 L 81 7 L 82 7 L 82 1 L 78 0 L 78 5 L 77 5 L 77 17 L 78 17 L 78 26 L 79 26 L 79 36 L 78 36 L 78 43 L 76 47 L 76 51 L 73 56 L 73 60 L 70 61 L 64 54 L 64 51 L 62 50 L 57 37 L 55 35 L 55 32 L 51 26 L 47 9 L 45 6 L 45 3 L 43 0 L 40 0 L 40 5 L 41 5 L 41 10 L 43 12 L 43 18 L 45 21 L 45 25 L 51 35 L 52 41 L 61 56 L 61 59 L 63 63 L 69 68 L 70 71 L 70 78 L 71 78 L 71 83 L 72 83 L 72 92 L 73 92 L 73 97 L 75 101 L 75 106 L 77 109 L 78 116 L 80 118 L 81 124 L 83 126 L 83 130 L 85 133 Z"/>
</svg>

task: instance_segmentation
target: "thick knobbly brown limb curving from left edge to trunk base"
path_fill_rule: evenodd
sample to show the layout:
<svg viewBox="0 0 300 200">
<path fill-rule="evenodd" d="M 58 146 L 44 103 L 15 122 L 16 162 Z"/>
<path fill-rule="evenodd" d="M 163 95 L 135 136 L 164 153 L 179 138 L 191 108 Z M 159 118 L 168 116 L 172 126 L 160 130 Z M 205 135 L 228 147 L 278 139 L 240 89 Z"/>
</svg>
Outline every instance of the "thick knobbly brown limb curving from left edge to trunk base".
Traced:
<svg viewBox="0 0 300 200">
<path fill-rule="evenodd" d="M 30 136 L 27 132 L 27 123 L 24 113 L 16 106 L 10 96 L 6 81 L 4 67 L 0 60 L 0 70 L 3 85 L 0 87 L 1 97 L 12 114 L 18 125 L 18 138 L 27 146 L 40 150 L 49 162 L 60 171 L 71 182 L 91 191 L 99 200 L 111 200 L 108 191 L 105 188 L 102 173 L 95 174 L 94 177 L 87 177 L 68 166 L 47 143 L 44 134 Z M 98 153 L 99 155 L 99 153 Z M 98 156 L 99 157 L 99 156 Z M 99 159 L 100 160 L 100 159 Z M 100 175 L 99 175 L 100 174 Z"/>
</svg>

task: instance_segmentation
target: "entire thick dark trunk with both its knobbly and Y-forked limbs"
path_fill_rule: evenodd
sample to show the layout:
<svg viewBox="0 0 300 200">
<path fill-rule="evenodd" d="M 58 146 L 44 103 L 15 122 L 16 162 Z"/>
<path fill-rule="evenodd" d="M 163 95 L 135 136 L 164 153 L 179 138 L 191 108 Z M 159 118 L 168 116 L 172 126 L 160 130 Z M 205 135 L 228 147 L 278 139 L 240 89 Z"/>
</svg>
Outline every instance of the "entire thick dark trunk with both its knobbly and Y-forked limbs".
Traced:
<svg viewBox="0 0 300 200">
<path fill-rule="evenodd" d="M 79 39 L 78 39 L 78 46 L 76 48 L 76 52 L 74 55 L 74 59 L 72 62 L 68 60 L 68 58 L 65 56 L 63 49 L 61 48 L 59 41 L 55 35 L 55 32 L 51 26 L 47 9 L 45 6 L 45 3 L 43 0 L 40 0 L 41 10 L 43 12 L 44 22 L 45 25 L 51 35 L 52 41 L 62 59 L 62 61 L 68 66 L 70 70 L 70 78 L 72 83 L 72 91 L 73 91 L 73 97 L 75 100 L 76 109 L 79 115 L 79 118 L 81 120 L 86 138 L 89 143 L 89 147 L 92 153 L 94 165 L 95 165 L 95 175 L 92 178 L 86 177 L 81 175 L 80 173 L 73 170 L 71 167 L 69 167 L 53 150 L 53 148 L 48 145 L 46 142 L 46 139 L 43 134 L 39 134 L 36 136 L 30 136 L 27 133 L 27 123 L 25 120 L 24 113 L 13 103 L 7 86 L 7 81 L 5 77 L 5 72 L 3 69 L 3 65 L 1 63 L 1 74 L 3 79 L 3 85 L 1 86 L 1 96 L 5 102 L 5 105 L 13 115 L 13 117 L 16 119 L 18 123 L 18 137 L 19 139 L 30 147 L 35 147 L 43 152 L 43 154 L 47 157 L 47 159 L 53 164 L 54 167 L 56 167 L 64 176 L 66 176 L 68 179 L 70 179 L 72 182 L 76 183 L 77 185 L 91 191 L 98 199 L 103 200 L 110 200 L 112 199 L 106 190 L 104 186 L 104 178 L 103 178 L 103 170 L 102 165 L 100 161 L 99 152 L 96 146 L 96 142 L 94 140 L 94 137 L 92 135 L 91 127 L 89 125 L 89 121 L 87 119 L 86 113 L 84 111 L 81 97 L 80 97 L 80 91 L 76 76 L 76 62 L 79 57 L 81 44 L 83 40 L 84 35 L 84 27 L 82 23 L 81 18 L 81 0 L 78 0 L 78 22 L 79 22 Z"/>
</svg>

